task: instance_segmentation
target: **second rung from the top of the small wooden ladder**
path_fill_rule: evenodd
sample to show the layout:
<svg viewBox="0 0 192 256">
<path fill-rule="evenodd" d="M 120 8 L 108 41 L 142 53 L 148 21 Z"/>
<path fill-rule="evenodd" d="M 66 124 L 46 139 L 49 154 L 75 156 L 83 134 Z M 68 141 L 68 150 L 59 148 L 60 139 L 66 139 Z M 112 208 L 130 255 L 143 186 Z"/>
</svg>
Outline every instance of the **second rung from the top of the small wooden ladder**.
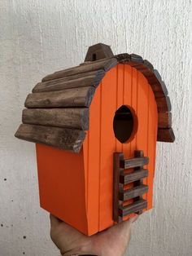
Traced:
<svg viewBox="0 0 192 256">
<path fill-rule="evenodd" d="M 146 178 L 149 174 L 149 171 L 146 169 L 143 170 L 134 170 L 133 172 L 126 174 L 124 172 L 120 172 L 120 183 L 126 185 L 128 183 L 132 183 L 137 181 L 138 179 Z"/>
</svg>

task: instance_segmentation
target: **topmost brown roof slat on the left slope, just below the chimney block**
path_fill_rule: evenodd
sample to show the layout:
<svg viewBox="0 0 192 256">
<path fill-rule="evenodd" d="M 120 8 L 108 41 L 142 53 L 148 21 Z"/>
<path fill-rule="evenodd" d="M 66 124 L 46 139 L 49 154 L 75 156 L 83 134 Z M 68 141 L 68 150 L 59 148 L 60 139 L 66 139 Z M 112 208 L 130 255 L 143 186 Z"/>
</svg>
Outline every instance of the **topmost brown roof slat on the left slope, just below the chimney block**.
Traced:
<svg viewBox="0 0 192 256">
<path fill-rule="evenodd" d="M 64 69 L 55 73 L 52 73 L 44 78 L 42 78 L 42 82 L 57 79 L 60 77 L 68 77 L 78 73 L 86 73 L 89 71 L 94 71 L 98 69 L 103 69 L 104 71 L 108 71 L 109 69 L 113 68 L 117 64 L 116 58 L 109 58 L 103 60 L 93 61 L 91 63 L 85 63 L 80 66 L 76 66 L 74 68 Z"/>
</svg>

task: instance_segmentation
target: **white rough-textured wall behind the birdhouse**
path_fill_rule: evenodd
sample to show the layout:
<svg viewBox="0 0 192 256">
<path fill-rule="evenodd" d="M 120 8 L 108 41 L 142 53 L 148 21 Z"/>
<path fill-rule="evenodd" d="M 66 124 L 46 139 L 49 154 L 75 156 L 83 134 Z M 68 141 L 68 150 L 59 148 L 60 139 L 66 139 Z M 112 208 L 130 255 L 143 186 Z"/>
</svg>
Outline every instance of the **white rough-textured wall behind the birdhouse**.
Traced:
<svg viewBox="0 0 192 256">
<path fill-rule="evenodd" d="M 0 0 L 1 256 L 58 255 L 49 216 L 39 208 L 34 145 L 13 135 L 41 77 L 80 64 L 97 42 L 150 60 L 172 100 L 177 139 L 158 143 L 155 209 L 134 224 L 127 255 L 192 255 L 191 6 L 190 0 Z"/>
</svg>

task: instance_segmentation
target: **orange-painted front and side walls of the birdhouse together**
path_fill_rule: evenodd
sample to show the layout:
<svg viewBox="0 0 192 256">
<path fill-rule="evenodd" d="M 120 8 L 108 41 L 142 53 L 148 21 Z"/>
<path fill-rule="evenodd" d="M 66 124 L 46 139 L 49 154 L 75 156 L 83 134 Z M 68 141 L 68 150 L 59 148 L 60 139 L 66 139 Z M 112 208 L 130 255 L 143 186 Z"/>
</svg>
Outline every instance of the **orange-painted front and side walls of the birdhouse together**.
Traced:
<svg viewBox="0 0 192 256">
<path fill-rule="evenodd" d="M 137 119 L 135 133 L 126 143 L 120 143 L 113 131 L 113 118 L 122 105 L 129 106 Z M 149 192 L 143 197 L 151 209 L 156 136 L 157 106 L 151 86 L 136 69 L 118 64 L 96 90 L 79 154 L 37 144 L 41 207 L 89 236 L 112 226 L 113 152 L 130 158 L 137 149 L 150 158 L 149 177 L 144 179 Z"/>
</svg>

